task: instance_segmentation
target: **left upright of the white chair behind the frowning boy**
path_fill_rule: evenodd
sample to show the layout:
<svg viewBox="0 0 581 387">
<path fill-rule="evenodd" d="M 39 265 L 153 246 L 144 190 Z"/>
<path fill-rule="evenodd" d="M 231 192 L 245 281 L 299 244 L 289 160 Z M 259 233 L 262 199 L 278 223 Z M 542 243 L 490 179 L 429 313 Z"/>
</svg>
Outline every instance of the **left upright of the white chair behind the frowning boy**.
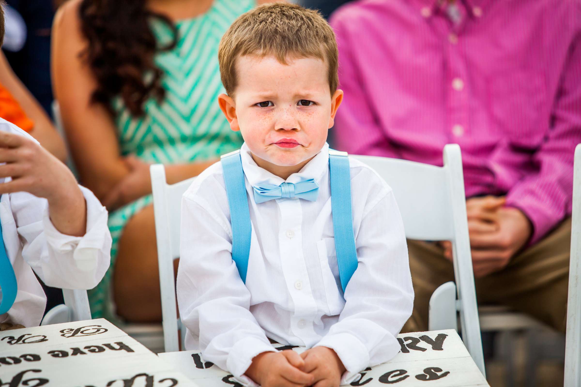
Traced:
<svg viewBox="0 0 581 387">
<path fill-rule="evenodd" d="M 159 265 L 160 291 L 162 295 L 163 341 L 166 352 L 180 349 L 178 327 L 182 337 L 185 332 L 177 319 L 175 306 L 174 259 L 180 257 L 181 197 L 194 178 L 172 185 L 166 182 L 166 170 L 162 164 L 149 169 L 153 192 L 153 214 L 157 238 L 157 263 Z"/>
</svg>

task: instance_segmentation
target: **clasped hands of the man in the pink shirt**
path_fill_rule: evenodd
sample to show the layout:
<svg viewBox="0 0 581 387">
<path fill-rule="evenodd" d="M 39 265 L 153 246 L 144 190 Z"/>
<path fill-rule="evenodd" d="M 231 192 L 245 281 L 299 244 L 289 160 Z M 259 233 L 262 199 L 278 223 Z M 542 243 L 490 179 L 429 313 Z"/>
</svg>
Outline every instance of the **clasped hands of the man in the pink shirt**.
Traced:
<svg viewBox="0 0 581 387">
<path fill-rule="evenodd" d="M 474 276 L 504 269 L 528 242 L 533 227 L 521 210 L 505 207 L 505 197 L 475 197 L 466 201 Z M 449 241 L 440 243 L 452 259 Z"/>
</svg>

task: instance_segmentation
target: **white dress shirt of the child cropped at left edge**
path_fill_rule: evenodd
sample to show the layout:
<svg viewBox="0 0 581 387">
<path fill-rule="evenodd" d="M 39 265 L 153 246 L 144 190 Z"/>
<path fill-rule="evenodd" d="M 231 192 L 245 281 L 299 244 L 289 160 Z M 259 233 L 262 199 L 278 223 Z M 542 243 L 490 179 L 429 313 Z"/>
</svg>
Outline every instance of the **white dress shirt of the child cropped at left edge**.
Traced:
<svg viewBox="0 0 581 387">
<path fill-rule="evenodd" d="M 0 131 L 33 139 L 2 118 Z M 9 180 L 2 178 L 0 184 Z M 46 199 L 26 192 L 2 195 L 2 237 L 16 274 L 18 291 L 12 308 L 0 314 L 0 323 L 25 327 L 40 324 L 46 296 L 33 269 L 46 285 L 66 289 L 94 288 L 105 275 L 111 249 L 107 210 L 91 191 L 80 189 L 87 202 L 87 231 L 83 237 L 65 235 L 55 228 L 49 218 Z"/>
</svg>

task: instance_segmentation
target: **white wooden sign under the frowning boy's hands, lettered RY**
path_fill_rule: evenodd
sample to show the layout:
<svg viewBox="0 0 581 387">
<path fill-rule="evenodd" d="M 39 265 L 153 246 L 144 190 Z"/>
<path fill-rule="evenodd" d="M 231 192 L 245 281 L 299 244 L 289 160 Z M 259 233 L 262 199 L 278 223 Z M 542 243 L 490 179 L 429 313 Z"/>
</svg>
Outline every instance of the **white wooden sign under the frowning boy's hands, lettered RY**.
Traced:
<svg viewBox="0 0 581 387">
<path fill-rule="evenodd" d="M 351 385 L 376 387 L 453 387 L 488 386 L 486 379 L 470 357 L 455 330 L 400 334 L 397 340 L 401 351 L 388 363 L 367 368 L 361 379 Z M 275 346 L 303 352 L 292 346 Z M 204 361 L 199 351 L 160 353 L 159 357 L 172 364 L 203 387 L 241 387 L 231 374 Z"/>
</svg>

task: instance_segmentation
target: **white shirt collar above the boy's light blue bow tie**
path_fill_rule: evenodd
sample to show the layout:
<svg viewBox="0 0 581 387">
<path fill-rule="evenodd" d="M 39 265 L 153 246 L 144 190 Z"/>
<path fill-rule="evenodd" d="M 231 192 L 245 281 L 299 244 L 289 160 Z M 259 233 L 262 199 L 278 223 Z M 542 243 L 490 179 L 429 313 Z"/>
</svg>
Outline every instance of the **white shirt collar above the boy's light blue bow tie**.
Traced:
<svg viewBox="0 0 581 387">
<path fill-rule="evenodd" d="M 329 144 L 327 143 L 325 143 L 319 153 L 311 161 L 307 162 L 299 172 L 293 173 L 286 180 L 256 165 L 246 143 L 242 144 L 240 157 L 242 159 L 244 175 L 251 186 L 258 186 L 260 184 L 279 186 L 285 181 L 287 183 L 299 183 L 309 179 L 314 179 L 317 183 L 320 183 L 322 176 L 329 170 Z"/>
</svg>

